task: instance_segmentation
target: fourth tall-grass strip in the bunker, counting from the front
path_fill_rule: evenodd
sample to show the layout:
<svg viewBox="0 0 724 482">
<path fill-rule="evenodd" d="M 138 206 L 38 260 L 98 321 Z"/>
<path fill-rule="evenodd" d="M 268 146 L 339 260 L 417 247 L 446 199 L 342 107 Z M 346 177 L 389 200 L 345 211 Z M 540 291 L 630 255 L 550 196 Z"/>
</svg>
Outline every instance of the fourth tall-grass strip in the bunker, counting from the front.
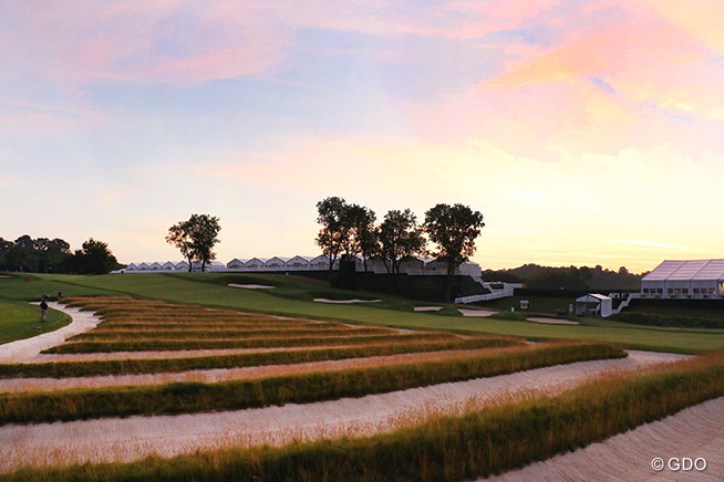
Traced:
<svg viewBox="0 0 724 482">
<path fill-rule="evenodd" d="M 226 348 L 272 348 L 312 345 L 356 345 L 362 343 L 451 339 L 454 335 L 443 333 L 400 333 L 369 336 L 329 336 L 324 338 L 251 338 L 251 339 L 161 339 L 126 342 L 76 342 L 65 343 L 42 353 L 110 353 L 110 352 L 168 352 L 182 349 L 226 349 Z"/>
</svg>

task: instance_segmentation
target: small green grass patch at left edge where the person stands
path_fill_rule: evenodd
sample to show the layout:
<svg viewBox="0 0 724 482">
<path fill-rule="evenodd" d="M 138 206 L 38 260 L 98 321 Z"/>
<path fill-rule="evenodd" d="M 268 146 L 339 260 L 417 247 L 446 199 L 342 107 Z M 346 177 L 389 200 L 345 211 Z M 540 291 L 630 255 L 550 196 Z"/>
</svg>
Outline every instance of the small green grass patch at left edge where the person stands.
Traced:
<svg viewBox="0 0 724 482">
<path fill-rule="evenodd" d="M 70 322 L 68 315 L 49 308 L 48 319 L 45 323 L 40 323 L 39 306 L 0 298 L 0 344 L 52 332 Z"/>
</svg>

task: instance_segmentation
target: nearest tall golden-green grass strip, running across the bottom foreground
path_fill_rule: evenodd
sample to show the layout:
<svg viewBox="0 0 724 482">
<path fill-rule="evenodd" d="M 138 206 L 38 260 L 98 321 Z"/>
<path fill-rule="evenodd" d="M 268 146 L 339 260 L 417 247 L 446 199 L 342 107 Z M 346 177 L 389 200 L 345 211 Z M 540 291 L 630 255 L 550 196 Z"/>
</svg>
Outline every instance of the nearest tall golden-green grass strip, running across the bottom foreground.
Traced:
<svg viewBox="0 0 724 482">
<path fill-rule="evenodd" d="M 370 438 L 24 469 L 0 480 L 457 481 L 499 473 L 724 395 L 724 354 Z M 641 460 L 648 464 L 649 460 Z"/>
</svg>

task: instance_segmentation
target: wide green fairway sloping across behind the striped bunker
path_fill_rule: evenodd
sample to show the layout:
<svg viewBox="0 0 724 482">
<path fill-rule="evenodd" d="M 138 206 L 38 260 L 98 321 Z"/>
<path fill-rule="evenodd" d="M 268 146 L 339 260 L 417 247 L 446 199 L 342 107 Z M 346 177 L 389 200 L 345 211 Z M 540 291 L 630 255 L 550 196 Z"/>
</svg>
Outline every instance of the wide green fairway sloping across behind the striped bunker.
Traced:
<svg viewBox="0 0 724 482">
<path fill-rule="evenodd" d="M 486 317 L 463 317 L 445 306 L 442 313 L 413 312 L 413 306 L 430 304 L 389 295 L 331 290 L 323 283 L 275 275 L 235 275 L 225 273 L 123 274 L 104 276 L 37 275 L 32 283 L 14 282 L 11 296 L 32 298 L 33 283 L 52 284 L 63 293 L 133 295 L 176 303 L 301 316 L 371 323 L 410 328 L 448 328 L 455 331 L 521 336 L 530 339 L 593 339 L 630 348 L 703 353 L 724 348 L 724 331 L 665 328 L 627 323 L 577 318 L 580 325 L 542 325 L 525 321 L 529 313 L 517 311 Z M 227 287 L 227 283 L 258 283 L 278 286 L 276 290 L 242 290 Z M 12 282 L 6 283 L 13 284 Z M 313 303 L 324 297 L 379 297 L 381 303 L 364 305 L 331 305 Z M 501 302 L 503 303 L 503 302 Z M 509 304 L 509 303 L 508 303 Z"/>
</svg>

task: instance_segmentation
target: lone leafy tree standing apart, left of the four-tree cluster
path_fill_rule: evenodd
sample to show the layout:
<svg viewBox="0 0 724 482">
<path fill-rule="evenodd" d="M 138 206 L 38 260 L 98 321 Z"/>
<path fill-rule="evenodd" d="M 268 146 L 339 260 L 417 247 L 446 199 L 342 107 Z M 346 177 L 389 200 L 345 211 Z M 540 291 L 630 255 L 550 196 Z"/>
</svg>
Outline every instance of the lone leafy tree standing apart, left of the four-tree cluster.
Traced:
<svg viewBox="0 0 724 482">
<path fill-rule="evenodd" d="M 178 248 L 182 255 L 188 260 L 189 272 L 195 261 L 201 263 L 201 272 L 205 272 L 206 265 L 216 259 L 214 245 L 219 242 L 220 230 L 219 218 L 192 214 L 188 220 L 168 228 L 166 242 Z"/>
</svg>

